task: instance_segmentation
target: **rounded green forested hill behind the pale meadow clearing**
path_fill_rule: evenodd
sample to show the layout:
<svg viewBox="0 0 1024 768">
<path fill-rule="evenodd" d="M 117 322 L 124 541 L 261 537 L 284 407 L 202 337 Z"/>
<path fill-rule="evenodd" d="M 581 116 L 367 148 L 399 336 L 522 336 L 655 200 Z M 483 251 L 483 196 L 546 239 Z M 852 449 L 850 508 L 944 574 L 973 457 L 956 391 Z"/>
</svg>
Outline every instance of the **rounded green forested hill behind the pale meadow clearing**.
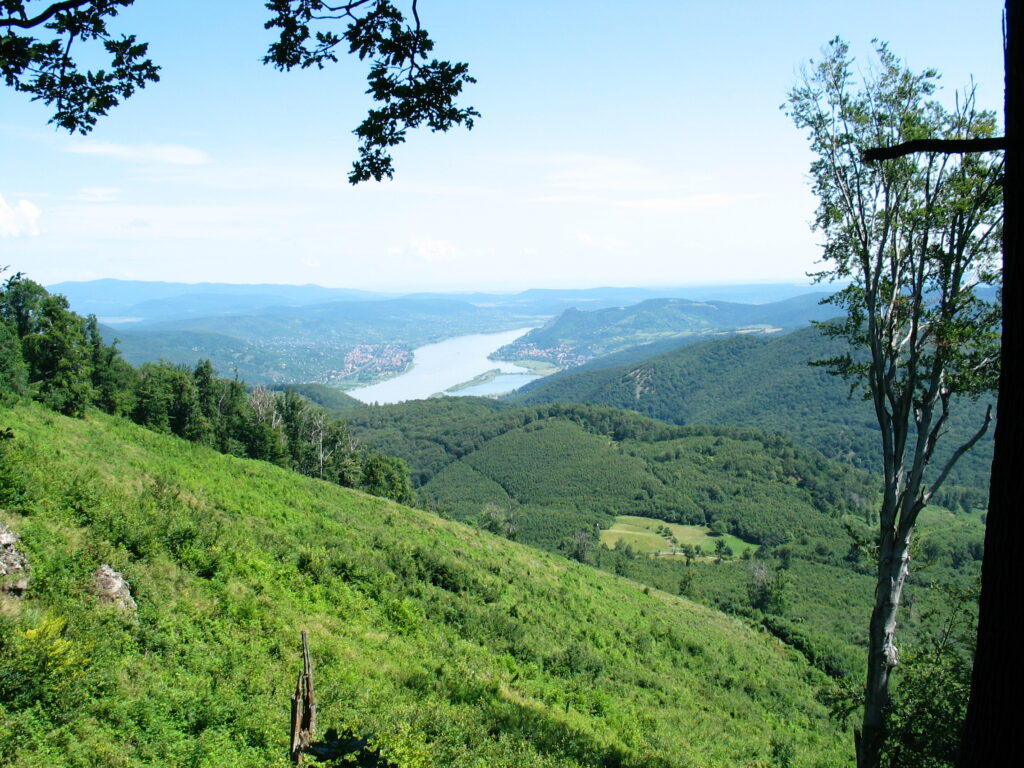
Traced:
<svg viewBox="0 0 1024 768">
<path fill-rule="evenodd" d="M 674 427 L 617 409 L 509 410 L 480 398 L 418 400 L 352 412 L 353 435 L 403 459 L 426 503 L 477 519 L 515 509 L 520 540 L 565 547 L 615 515 L 712 525 L 765 544 L 802 534 L 844 538 L 863 515 L 863 473 L 781 435 Z"/>
</svg>

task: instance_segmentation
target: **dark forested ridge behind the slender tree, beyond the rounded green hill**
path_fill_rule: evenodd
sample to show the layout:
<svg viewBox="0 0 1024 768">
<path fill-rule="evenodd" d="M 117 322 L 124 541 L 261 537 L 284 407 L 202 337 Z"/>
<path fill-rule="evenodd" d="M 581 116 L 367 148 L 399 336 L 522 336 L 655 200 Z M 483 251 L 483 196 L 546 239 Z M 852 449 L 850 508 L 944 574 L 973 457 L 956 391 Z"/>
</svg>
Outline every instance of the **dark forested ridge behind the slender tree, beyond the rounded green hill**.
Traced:
<svg viewBox="0 0 1024 768">
<path fill-rule="evenodd" d="M 811 360 L 842 354 L 841 342 L 807 328 L 774 337 L 733 336 L 679 347 L 640 362 L 568 372 L 511 395 L 521 406 L 589 402 L 629 409 L 672 424 L 718 424 L 779 431 L 828 457 L 872 471 L 881 467 L 878 423 L 850 385 Z M 985 401 L 954 409 L 938 459 L 984 421 Z M 945 453 L 942 453 L 942 452 Z M 991 463 L 991 431 L 950 475 L 946 502 L 981 500 Z M 956 497 L 956 498 L 954 498 Z M 965 501 L 968 501 L 965 497 Z"/>
</svg>

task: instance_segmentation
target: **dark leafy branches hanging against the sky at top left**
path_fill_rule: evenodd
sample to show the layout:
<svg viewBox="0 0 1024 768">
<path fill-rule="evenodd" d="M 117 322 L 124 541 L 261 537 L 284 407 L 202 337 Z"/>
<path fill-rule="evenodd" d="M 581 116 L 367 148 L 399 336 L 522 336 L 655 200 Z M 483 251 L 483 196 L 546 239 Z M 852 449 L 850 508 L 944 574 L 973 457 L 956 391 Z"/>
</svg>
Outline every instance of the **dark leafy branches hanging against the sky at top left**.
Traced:
<svg viewBox="0 0 1024 768">
<path fill-rule="evenodd" d="M 88 133 L 98 118 L 137 89 L 160 80 L 148 45 L 134 35 L 115 37 L 108 23 L 134 0 L 0 0 L 0 77 L 16 91 L 55 108 L 50 122 L 72 133 Z M 378 106 L 353 131 L 359 158 L 349 181 L 380 181 L 394 172 L 389 151 L 410 128 L 446 131 L 473 127 L 478 113 L 456 99 L 475 82 L 467 65 L 430 58 L 434 44 L 420 26 L 417 0 L 412 22 L 391 0 L 269 0 L 264 27 L 278 39 L 263 62 L 279 70 L 323 68 L 338 49 L 369 59 L 369 90 Z M 341 34 L 334 25 L 344 24 Z M 75 57 L 102 56 L 109 65 L 86 69 Z M 96 47 L 101 49 L 101 53 Z M 75 53 L 75 55 L 73 55 Z"/>
</svg>

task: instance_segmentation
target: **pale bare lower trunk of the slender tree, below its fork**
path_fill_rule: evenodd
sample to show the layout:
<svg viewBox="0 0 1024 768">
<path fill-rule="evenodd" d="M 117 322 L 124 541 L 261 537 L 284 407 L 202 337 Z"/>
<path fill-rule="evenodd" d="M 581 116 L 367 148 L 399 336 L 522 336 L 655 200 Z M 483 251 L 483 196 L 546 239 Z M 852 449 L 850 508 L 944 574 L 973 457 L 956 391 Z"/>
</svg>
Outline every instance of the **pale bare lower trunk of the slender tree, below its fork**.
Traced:
<svg viewBox="0 0 1024 768">
<path fill-rule="evenodd" d="M 910 562 L 910 537 L 883 537 L 879 552 L 874 607 L 868 629 L 864 719 L 857 734 L 857 768 L 878 768 L 886 737 L 889 675 L 897 664 L 896 612 Z"/>
</svg>

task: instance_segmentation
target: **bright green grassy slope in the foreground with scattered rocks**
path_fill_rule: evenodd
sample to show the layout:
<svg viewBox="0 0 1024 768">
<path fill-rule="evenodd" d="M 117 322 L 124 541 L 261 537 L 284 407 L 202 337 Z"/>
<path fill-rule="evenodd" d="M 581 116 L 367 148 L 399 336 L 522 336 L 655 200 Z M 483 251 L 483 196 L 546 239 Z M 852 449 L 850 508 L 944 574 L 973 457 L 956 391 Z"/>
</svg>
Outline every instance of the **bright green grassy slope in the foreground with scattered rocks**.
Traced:
<svg viewBox="0 0 1024 768">
<path fill-rule="evenodd" d="M 126 422 L 3 421 L 33 585 L 0 611 L 0 763 L 285 765 L 300 629 L 322 729 L 400 766 L 849 762 L 820 676 L 720 613 Z M 84 589 L 100 562 L 137 621 Z"/>
</svg>

